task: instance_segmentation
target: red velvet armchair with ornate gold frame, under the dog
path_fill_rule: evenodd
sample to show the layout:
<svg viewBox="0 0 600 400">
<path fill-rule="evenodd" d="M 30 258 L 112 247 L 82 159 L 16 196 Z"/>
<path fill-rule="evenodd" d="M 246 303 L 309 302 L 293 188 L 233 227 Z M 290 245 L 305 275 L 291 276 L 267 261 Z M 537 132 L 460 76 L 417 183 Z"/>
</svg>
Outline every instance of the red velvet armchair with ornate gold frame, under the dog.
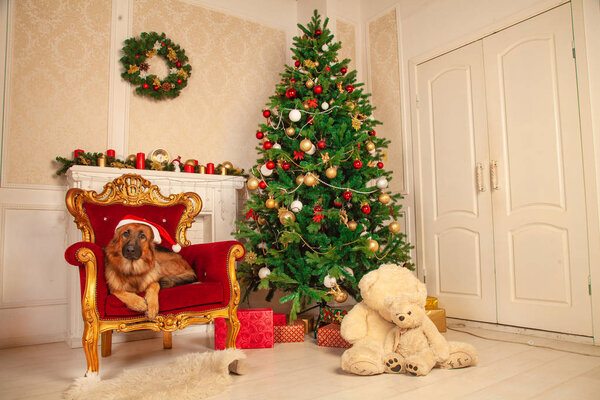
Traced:
<svg viewBox="0 0 600 400">
<path fill-rule="evenodd" d="M 235 347 L 240 328 L 237 319 L 240 287 L 235 261 L 244 256 L 244 248 L 236 241 L 190 245 L 185 233 L 202 208 L 200 196 L 180 193 L 165 197 L 156 185 L 141 176 L 126 174 L 107 183 L 102 193 L 70 189 L 66 204 L 83 234 L 83 241 L 71 245 L 65 258 L 79 267 L 86 375 L 97 373 L 99 369 L 99 335 L 105 357 L 111 353 L 114 330 L 162 331 L 163 345 L 170 348 L 171 332 L 190 324 L 225 318 L 228 326 L 226 345 Z M 179 254 L 195 269 L 198 277 L 198 282 L 162 289 L 159 314 L 154 321 L 128 309 L 111 295 L 104 277 L 103 247 L 112 239 L 116 224 L 127 214 L 162 225 L 182 246 Z"/>
</svg>

